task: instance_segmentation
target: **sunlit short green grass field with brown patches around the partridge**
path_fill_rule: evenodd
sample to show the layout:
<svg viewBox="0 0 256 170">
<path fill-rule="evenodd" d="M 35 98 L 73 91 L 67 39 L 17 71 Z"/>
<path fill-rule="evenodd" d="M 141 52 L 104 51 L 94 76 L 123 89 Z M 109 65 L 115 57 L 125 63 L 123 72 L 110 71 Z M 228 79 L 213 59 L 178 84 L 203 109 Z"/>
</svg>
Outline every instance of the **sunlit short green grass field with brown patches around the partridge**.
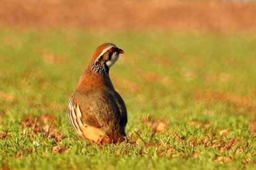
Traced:
<svg viewBox="0 0 256 170">
<path fill-rule="evenodd" d="M 135 144 L 90 145 L 67 119 L 70 94 L 103 42 L 125 51 L 110 76 Z M 255 169 L 255 44 L 246 34 L 1 28 L 0 134 L 8 135 L 0 139 L 0 168 Z M 29 115 L 53 115 L 45 124 L 62 140 L 30 136 L 22 126 Z M 151 136 L 159 121 L 168 126 Z"/>
</svg>

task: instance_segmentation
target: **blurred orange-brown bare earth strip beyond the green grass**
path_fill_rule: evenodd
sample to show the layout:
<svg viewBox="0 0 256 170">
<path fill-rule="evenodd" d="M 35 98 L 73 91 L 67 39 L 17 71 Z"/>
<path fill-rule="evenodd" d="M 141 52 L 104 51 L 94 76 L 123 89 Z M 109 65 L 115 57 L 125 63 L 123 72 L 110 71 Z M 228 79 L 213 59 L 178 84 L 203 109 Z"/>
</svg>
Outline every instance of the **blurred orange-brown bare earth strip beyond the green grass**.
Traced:
<svg viewBox="0 0 256 170">
<path fill-rule="evenodd" d="M 253 1 L 2 0 L 0 26 L 85 30 L 256 31 Z"/>
</svg>

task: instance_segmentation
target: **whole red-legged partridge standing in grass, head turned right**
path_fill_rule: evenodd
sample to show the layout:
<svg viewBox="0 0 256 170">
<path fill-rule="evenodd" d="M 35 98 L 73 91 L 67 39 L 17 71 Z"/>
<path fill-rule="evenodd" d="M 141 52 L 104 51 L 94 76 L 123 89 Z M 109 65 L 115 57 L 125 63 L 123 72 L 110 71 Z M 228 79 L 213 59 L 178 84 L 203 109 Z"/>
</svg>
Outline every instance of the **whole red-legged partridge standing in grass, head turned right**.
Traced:
<svg viewBox="0 0 256 170">
<path fill-rule="evenodd" d="M 112 43 L 96 48 L 68 103 L 67 115 L 75 131 L 93 144 L 119 144 L 126 137 L 127 110 L 109 69 L 124 54 Z"/>
</svg>

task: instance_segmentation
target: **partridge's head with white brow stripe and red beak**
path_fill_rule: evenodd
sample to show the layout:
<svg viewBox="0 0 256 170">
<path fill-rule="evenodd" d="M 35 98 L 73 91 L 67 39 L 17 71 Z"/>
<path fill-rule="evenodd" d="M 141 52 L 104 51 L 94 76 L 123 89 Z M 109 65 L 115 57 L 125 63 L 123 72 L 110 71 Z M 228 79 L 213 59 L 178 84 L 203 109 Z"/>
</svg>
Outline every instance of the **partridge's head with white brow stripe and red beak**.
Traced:
<svg viewBox="0 0 256 170">
<path fill-rule="evenodd" d="M 92 57 L 92 63 L 98 67 L 109 68 L 119 59 L 119 54 L 123 54 L 122 49 L 117 48 L 114 44 L 105 43 L 98 46 Z"/>
</svg>

